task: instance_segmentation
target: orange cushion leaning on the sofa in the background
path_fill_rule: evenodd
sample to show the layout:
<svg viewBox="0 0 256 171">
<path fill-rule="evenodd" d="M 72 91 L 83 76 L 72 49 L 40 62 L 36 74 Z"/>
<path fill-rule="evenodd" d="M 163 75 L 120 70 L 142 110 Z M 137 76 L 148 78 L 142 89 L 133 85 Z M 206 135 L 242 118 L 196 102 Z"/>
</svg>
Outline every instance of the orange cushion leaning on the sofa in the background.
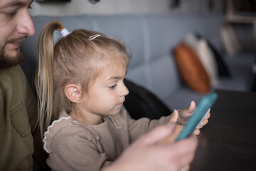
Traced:
<svg viewBox="0 0 256 171">
<path fill-rule="evenodd" d="M 186 85 L 199 93 L 209 93 L 210 79 L 193 49 L 181 42 L 174 49 L 174 57 Z"/>
</svg>

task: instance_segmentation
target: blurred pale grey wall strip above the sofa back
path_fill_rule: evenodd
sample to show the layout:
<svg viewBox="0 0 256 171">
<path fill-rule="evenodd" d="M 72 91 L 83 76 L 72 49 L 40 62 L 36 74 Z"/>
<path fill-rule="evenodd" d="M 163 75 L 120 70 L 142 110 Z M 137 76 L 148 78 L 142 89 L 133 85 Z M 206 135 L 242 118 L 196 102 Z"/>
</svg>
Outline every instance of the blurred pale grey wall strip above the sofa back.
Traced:
<svg viewBox="0 0 256 171">
<path fill-rule="evenodd" d="M 96 4 L 90 1 L 95 0 L 35 0 L 31 15 L 224 14 L 225 11 L 224 0 L 100 0 Z"/>
</svg>

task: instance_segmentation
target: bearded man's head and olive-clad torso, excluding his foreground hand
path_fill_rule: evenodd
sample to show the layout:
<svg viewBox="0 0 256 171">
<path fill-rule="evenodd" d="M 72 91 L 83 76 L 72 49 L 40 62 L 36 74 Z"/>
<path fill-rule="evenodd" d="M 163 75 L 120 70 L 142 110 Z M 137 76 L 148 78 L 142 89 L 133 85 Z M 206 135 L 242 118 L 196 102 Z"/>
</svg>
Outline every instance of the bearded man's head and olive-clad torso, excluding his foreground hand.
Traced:
<svg viewBox="0 0 256 171">
<path fill-rule="evenodd" d="M 36 98 L 18 65 L 23 59 L 21 43 L 35 33 L 28 14 L 31 3 L 0 0 L 0 170 L 32 170 L 33 138 L 39 142 L 34 157 L 42 150 L 35 127 Z"/>
</svg>

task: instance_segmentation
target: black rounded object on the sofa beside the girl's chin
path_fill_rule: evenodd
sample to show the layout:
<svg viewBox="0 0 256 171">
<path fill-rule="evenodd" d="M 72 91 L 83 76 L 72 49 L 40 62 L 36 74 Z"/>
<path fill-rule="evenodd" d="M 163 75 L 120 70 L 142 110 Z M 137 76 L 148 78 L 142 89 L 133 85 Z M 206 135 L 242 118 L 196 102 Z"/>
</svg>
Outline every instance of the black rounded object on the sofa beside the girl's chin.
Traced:
<svg viewBox="0 0 256 171">
<path fill-rule="evenodd" d="M 124 79 L 124 84 L 129 89 L 129 94 L 125 97 L 124 107 L 132 118 L 159 119 L 161 116 L 171 114 L 171 110 L 146 88 L 127 79 Z"/>
</svg>

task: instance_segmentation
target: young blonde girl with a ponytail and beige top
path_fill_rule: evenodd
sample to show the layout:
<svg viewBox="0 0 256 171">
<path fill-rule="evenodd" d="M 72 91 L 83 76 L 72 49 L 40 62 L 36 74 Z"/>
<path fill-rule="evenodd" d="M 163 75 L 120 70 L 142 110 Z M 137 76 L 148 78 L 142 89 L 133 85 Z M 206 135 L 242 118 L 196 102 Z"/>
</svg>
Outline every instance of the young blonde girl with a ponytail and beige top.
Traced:
<svg viewBox="0 0 256 171">
<path fill-rule="evenodd" d="M 53 46 L 56 30 L 63 37 Z M 122 108 L 130 57 L 119 41 L 85 29 L 69 33 L 51 22 L 38 42 L 39 123 L 42 134 L 47 130 L 43 142 L 52 170 L 101 170 L 140 135 L 169 123 L 170 116 L 132 120 Z M 175 110 L 172 119 L 183 122 L 194 108 L 191 103 L 180 115 Z"/>
</svg>

